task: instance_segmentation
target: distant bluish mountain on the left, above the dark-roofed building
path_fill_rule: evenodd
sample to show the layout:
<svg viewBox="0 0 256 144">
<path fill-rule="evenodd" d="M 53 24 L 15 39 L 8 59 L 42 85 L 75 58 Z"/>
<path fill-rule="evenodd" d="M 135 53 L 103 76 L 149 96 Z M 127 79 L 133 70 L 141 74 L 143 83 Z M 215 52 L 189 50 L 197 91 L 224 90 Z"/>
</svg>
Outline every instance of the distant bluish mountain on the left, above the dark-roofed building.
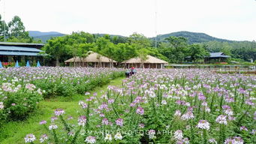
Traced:
<svg viewBox="0 0 256 144">
<path fill-rule="evenodd" d="M 29 31 L 29 36 L 34 37 L 35 39 L 42 40 L 43 43 L 46 43 L 51 37 L 62 37 L 65 34 L 62 34 L 57 31 L 41 32 L 41 31 Z"/>
</svg>

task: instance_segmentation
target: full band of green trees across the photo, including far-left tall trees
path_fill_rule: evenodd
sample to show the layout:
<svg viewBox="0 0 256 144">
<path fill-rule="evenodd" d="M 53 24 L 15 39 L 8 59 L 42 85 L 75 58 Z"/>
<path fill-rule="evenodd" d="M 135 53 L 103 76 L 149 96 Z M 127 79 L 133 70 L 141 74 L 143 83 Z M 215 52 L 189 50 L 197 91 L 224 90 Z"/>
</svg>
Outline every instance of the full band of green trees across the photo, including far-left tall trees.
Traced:
<svg viewBox="0 0 256 144">
<path fill-rule="evenodd" d="M 29 37 L 20 17 L 15 16 L 9 23 L 5 23 L 0 15 L 0 41 L 41 43 Z M 68 58 L 83 58 L 89 51 L 112 58 L 116 62 L 124 62 L 129 58 L 146 58 L 152 55 L 170 63 L 184 63 L 189 61 L 203 63 L 209 52 L 224 52 L 230 55 L 230 60 L 239 62 L 256 59 L 256 43 L 249 42 L 218 42 L 189 43 L 185 37 L 166 37 L 164 41 L 150 40 L 143 34 L 131 34 L 129 37 L 113 36 L 109 34 L 89 34 L 84 31 L 72 32 L 62 37 L 52 37 L 47 40 L 44 51 L 48 54 L 48 65 L 63 65 Z M 56 62 L 53 64 L 53 62 Z"/>
</svg>

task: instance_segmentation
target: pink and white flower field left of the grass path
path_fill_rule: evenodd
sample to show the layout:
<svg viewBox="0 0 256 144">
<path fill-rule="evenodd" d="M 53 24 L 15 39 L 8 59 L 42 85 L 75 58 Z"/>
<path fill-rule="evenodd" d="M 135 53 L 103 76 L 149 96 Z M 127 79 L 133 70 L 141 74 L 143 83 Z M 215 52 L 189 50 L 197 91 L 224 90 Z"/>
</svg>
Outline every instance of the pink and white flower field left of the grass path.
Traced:
<svg viewBox="0 0 256 144">
<path fill-rule="evenodd" d="M 8 120 L 23 120 L 45 98 L 84 94 L 116 77 L 122 69 L 7 68 L 0 69 L 0 127 Z"/>
</svg>

